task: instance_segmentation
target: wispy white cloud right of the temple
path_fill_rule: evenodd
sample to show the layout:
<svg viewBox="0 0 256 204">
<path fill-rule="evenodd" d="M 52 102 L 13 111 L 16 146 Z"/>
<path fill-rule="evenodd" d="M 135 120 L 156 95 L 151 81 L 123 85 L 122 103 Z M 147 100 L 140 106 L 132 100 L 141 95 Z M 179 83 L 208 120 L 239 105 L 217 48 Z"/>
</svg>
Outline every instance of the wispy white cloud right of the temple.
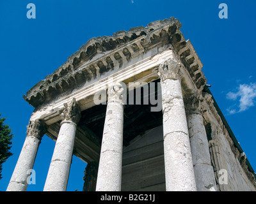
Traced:
<svg viewBox="0 0 256 204">
<path fill-rule="evenodd" d="M 256 83 L 240 84 L 237 92 L 227 93 L 227 98 L 233 101 L 239 99 L 239 110 L 228 108 L 228 112 L 230 114 L 248 110 L 248 108 L 255 105 L 254 99 L 256 98 Z"/>
</svg>

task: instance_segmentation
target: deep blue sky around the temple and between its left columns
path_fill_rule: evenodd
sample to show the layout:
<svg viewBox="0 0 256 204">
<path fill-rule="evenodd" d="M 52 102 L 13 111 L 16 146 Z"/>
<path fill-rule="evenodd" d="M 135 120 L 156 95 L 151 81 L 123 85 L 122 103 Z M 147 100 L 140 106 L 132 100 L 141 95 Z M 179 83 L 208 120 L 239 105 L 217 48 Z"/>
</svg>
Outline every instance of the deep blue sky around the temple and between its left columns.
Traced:
<svg viewBox="0 0 256 204">
<path fill-rule="evenodd" d="M 35 19 L 26 17 L 28 3 L 36 6 Z M 228 6 L 227 19 L 218 17 L 221 3 Z M 33 112 L 22 96 L 90 38 L 170 17 L 182 23 L 182 33 L 204 64 L 207 84 L 256 171 L 255 6 L 255 0 L 1 0 L 0 112 L 15 136 L 0 191 L 8 186 Z M 36 184 L 28 191 L 44 188 L 54 144 L 47 136 L 42 139 L 33 168 Z M 82 191 L 85 166 L 73 156 L 68 191 Z"/>
</svg>

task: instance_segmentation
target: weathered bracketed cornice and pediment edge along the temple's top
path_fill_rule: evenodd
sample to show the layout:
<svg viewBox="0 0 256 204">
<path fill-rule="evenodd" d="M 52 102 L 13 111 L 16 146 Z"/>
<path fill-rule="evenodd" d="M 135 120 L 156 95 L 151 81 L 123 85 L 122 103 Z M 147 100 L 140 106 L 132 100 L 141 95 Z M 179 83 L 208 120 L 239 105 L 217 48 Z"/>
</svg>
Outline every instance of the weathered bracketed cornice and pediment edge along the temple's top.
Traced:
<svg viewBox="0 0 256 204">
<path fill-rule="evenodd" d="M 40 107 L 114 68 L 121 68 L 124 62 L 154 47 L 165 45 L 172 45 L 196 87 L 201 89 L 206 82 L 201 71 L 202 62 L 190 41 L 186 41 L 180 33 L 180 27 L 179 20 L 172 17 L 151 22 L 147 27 L 119 31 L 113 36 L 92 38 L 54 73 L 30 89 L 24 99 L 35 108 Z"/>
</svg>

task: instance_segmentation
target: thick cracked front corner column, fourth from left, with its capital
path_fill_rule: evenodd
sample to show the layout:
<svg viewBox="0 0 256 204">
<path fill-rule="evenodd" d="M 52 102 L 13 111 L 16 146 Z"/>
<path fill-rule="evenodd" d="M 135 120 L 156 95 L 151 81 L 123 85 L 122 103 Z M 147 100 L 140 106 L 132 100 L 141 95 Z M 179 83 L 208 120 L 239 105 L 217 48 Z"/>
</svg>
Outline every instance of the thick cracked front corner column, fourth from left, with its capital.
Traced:
<svg viewBox="0 0 256 204">
<path fill-rule="evenodd" d="M 166 191 L 196 191 L 188 124 L 180 85 L 180 65 L 174 59 L 159 66 L 163 104 Z"/>
</svg>

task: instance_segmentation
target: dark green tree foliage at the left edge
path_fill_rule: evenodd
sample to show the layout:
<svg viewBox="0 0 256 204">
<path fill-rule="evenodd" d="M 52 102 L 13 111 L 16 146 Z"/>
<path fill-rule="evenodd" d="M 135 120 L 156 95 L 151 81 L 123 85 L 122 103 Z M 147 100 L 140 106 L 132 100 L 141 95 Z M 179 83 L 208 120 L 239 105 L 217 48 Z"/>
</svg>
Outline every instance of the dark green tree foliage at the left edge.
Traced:
<svg viewBox="0 0 256 204">
<path fill-rule="evenodd" d="M 4 124 L 5 118 L 1 119 L 0 113 L 0 179 L 2 179 L 2 164 L 12 156 L 10 149 L 12 146 L 12 129 L 7 124 Z"/>
</svg>

